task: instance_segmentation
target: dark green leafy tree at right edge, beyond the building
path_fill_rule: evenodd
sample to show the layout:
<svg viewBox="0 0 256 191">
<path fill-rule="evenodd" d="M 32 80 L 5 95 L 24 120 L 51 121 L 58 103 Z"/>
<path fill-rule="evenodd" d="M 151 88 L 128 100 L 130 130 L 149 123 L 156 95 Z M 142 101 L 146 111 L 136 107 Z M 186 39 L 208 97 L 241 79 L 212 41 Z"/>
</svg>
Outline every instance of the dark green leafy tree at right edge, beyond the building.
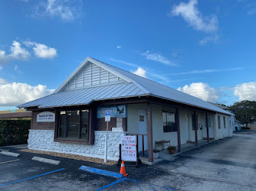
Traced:
<svg viewBox="0 0 256 191">
<path fill-rule="evenodd" d="M 231 108 L 235 110 L 235 118 L 241 123 L 246 124 L 256 121 L 256 102 L 255 101 L 241 101 L 235 102 L 231 105 Z"/>
</svg>

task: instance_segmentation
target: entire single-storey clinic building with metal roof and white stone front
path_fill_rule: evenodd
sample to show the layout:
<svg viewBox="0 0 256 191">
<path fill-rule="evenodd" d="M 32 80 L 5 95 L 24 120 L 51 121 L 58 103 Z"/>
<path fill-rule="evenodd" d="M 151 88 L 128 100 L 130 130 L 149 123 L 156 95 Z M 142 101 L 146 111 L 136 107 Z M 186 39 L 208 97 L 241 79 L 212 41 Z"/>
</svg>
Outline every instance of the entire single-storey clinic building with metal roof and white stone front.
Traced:
<svg viewBox="0 0 256 191">
<path fill-rule="evenodd" d="M 123 134 L 138 135 L 149 162 L 160 141 L 171 145 L 232 135 L 232 114 L 192 95 L 87 57 L 52 95 L 18 106 L 32 111 L 28 148 L 118 160 Z M 208 122 L 207 122 L 208 121 Z M 143 144 L 144 143 L 144 144 Z M 144 147 L 144 148 L 143 148 Z"/>
</svg>

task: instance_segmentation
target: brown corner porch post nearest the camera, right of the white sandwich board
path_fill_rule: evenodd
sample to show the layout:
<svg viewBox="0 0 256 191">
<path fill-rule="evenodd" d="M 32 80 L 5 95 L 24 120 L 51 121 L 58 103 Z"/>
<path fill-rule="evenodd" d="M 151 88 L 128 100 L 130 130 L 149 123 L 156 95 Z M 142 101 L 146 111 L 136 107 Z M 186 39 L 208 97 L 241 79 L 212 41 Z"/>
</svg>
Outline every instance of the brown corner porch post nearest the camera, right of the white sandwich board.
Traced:
<svg viewBox="0 0 256 191">
<path fill-rule="evenodd" d="M 148 152 L 149 162 L 153 162 L 153 130 L 152 130 L 152 105 L 147 102 L 147 132 L 148 132 Z"/>
</svg>

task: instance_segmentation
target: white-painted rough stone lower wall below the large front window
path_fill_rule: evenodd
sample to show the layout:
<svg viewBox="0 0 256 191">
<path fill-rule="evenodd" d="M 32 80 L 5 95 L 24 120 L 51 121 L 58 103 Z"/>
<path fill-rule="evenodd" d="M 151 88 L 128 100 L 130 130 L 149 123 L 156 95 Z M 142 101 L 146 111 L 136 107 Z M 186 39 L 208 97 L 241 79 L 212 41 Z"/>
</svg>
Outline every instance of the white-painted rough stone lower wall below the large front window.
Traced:
<svg viewBox="0 0 256 191">
<path fill-rule="evenodd" d="M 119 144 L 121 136 L 126 132 L 108 132 L 107 158 L 109 160 L 119 159 Z M 54 151 L 66 154 L 79 154 L 85 157 L 104 158 L 106 131 L 95 131 L 94 145 L 65 144 L 54 142 L 54 130 L 30 130 L 28 135 L 28 148 L 40 151 Z"/>
</svg>

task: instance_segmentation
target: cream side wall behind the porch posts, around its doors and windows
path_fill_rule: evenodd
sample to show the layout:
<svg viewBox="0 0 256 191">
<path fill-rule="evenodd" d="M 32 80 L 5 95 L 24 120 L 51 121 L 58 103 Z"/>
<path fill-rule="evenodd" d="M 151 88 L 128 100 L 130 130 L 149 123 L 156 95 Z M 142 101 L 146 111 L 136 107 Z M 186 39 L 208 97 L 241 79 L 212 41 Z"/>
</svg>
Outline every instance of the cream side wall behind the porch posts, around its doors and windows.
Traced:
<svg viewBox="0 0 256 191">
<path fill-rule="evenodd" d="M 146 110 L 146 104 L 128 104 L 127 105 L 127 133 L 128 134 L 138 134 L 139 133 L 139 109 Z M 152 105 L 152 113 L 153 113 L 153 147 L 155 147 L 155 141 L 170 140 L 170 144 L 173 146 L 178 145 L 177 141 L 177 132 L 163 132 L 162 127 L 162 111 L 166 112 L 176 112 L 176 108 L 171 108 L 162 105 Z M 192 115 L 194 112 L 191 110 L 180 109 L 179 110 L 179 123 L 180 123 L 180 137 L 181 144 L 186 144 L 186 130 L 185 130 L 185 116 L 188 118 L 188 127 L 189 127 L 189 140 L 195 141 L 195 130 L 192 130 Z M 205 121 L 205 112 L 196 112 L 198 115 L 198 140 L 202 140 L 203 138 L 207 138 L 206 133 L 206 121 Z M 216 123 L 215 115 L 208 114 L 208 116 L 212 116 L 212 131 L 215 136 L 215 139 L 225 138 L 232 135 L 232 128 L 229 128 L 229 120 L 231 120 L 231 116 L 225 115 L 226 118 L 226 128 L 218 129 L 218 121 Z M 223 116 L 222 118 L 223 125 Z M 218 120 L 218 117 L 217 117 Z M 216 128 L 217 125 L 217 128 Z M 205 131 L 205 135 L 204 135 Z"/>
</svg>

